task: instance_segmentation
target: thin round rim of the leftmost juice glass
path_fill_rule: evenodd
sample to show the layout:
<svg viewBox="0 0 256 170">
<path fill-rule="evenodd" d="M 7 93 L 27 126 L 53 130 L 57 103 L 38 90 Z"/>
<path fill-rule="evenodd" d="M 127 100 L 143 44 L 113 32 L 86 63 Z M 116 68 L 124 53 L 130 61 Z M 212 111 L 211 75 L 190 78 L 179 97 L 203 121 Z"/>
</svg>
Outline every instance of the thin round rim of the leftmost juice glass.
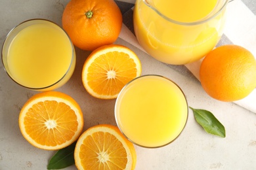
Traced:
<svg viewBox="0 0 256 170">
<path fill-rule="evenodd" d="M 18 29 L 18 27 L 20 27 L 22 24 L 26 24 L 28 22 L 33 22 L 33 21 L 43 21 L 43 22 L 50 22 L 51 24 L 54 24 L 56 25 L 57 27 L 59 27 L 62 31 L 64 31 L 66 37 L 68 38 L 68 40 L 70 41 L 70 45 L 71 45 L 71 48 L 72 48 L 72 59 L 70 61 L 70 65 L 68 67 L 68 69 L 66 70 L 65 74 L 56 82 L 54 82 L 53 84 L 50 84 L 49 86 L 44 86 L 44 87 L 40 87 L 40 88 L 32 88 L 32 87 L 29 87 L 29 86 L 24 86 L 23 84 L 20 84 L 17 80 L 15 80 L 14 78 L 12 78 L 11 76 L 11 73 L 9 73 L 9 71 L 7 71 L 7 65 L 5 65 L 5 62 L 4 62 L 4 57 L 3 57 L 3 50 L 4 50 L 4 46 L 5 46 L 5 42 L 7 41 L 7 39 L 9 38 L 9 36 L 11 35 L 11 33 L 15 30 L 15 29 Z M 21 29 L 22 30 L 22 29 Z M 20 30 L 20 31 L 21 31 Z M 18 32 L 20 32 L 18 31 Z M 73 45 L 73 42 L 72 40 L 70 39 L 70 37 L 68 36 L 68 33 L 66 33 L 66 31 L 60 27 L 60 25 L 56 24 L 55 22 L 51 21 L 51 20 L 47 20 L 47 19 L 44 19 L 44 18 L 33 18 L 33 19 L 30 19 L 30 20 L 25 20 L 23 22 L 20 22 L 20 24 L 12 27 L 12 29 L 9 31 L 9 33 L 7 33 L 6 37 L 5 37 L 5 40 L 3 41 L 3 45 L 2 45 L 2 50 L 1 50 L 1 61 L 3 63 L 3 69 L 5 70 L 5 73 L 7 73 L 7 75 L 14 81 L 16 82 L 16 84 L 24 87 L 24 88 L 28 88 L 30 90 L 45 90 L 47 88 L 51 88 L 53 87 L 54 85 L 58 84 L 58 82 L 60 82 L 61 80 L 63 80 L 65 78 L 65 76 L 68 74 L 68 72 L 70 71 L 70 69 L 72 68 L 72 63 L 74 62 L 75 60 L 75 49 L 74 49 L 74 45 Z"/>
</svg>

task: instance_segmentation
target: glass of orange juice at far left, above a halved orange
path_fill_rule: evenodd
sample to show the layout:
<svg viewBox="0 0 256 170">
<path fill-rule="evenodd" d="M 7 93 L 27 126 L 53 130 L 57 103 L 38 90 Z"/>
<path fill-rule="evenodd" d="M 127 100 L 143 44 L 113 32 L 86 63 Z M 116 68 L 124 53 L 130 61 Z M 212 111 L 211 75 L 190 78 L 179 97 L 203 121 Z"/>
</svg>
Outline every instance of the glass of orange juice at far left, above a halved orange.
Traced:
<svg viewBox="0 0 256 170">
<path fill-rule="evenodd" d="M 54 22 L 22 22 L 7 35 L 2 48 L 7 74 L 30 90 L 49 91 L 64 85 L 75 69 L 75 49 L 66 32 Z"/>
</svg>

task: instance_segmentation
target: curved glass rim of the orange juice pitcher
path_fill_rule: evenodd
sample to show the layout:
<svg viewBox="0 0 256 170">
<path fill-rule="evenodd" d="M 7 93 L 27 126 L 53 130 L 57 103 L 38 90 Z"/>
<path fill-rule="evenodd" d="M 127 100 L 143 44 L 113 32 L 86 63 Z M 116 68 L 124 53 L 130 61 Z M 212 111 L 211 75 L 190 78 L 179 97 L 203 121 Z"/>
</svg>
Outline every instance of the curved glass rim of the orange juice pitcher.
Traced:
<svg viewBox="0 0 256 170">
<path fill-rule="evenodd" d="M 213 14 L 211 14 L 211 12 L 210 12 L 210 14 L 211 14 L 210 16 L 207 15 L 207 16 L 205 16 L 205 18 L 202 18 L 201 20 L 198 20 L 198 21 L 196 21 L 196 22 L 179 22 L 179 21 L 177 21 L 177 20 L 173 20 L 173 19 L 171 19 L 171 18 L 165 16 L 164 14 L 162 14 L 159 10 L 157 10 L 157 9 L 154 8 L 154 7 L 152 7 L 152 5 L 150 5 L 150 4 L 147 2 L 147 0 L 141 0 L 141 1 L 143 1 L 143 3 L 144 3 L 145 5 L 147 5 L 150 9 L 154 10 L 159 16 L 161 16 L 162 18 L 164 18 L 164 19 L 167 20 L 168 22 L 173 22 L 174 24 L 187 25 L 187 26 L 199 25 L 199 24 L 203 24 L 203 23 L 205 23 L 205 22 L 208 22 L 209 20 L 215 18 L 215 16 L 217 16 L 219 13 L 221 13 L 222 10 L 224 10 L 224 9 L 226 8 L 226 5 L 227 5 L 228 2 L 229 2 L 229 0 L 223 0 L 223 1 L 224 1 L 223 5 L 221 5 L 221 7 L 220 7 L 216 12 L 214 12 Z M 220 0 L 219 0 L 219 1 L 220 1 Z M 218 1 L 218 2 L 219 2 L 219 1 Z M 217 2 L 217 3 L 218 3 L 218 2 Z M 215 8 L 214 8 L 213 10 L 215 10 Z"/>
</svg>

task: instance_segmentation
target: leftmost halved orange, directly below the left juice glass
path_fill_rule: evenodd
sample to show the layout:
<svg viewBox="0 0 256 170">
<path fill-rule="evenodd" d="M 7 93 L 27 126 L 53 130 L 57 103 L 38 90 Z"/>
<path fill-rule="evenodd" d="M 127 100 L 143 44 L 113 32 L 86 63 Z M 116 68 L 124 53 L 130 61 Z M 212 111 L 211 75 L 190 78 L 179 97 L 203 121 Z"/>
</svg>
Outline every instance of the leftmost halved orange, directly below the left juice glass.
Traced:
<svg viewBox="0 0 256 170">
<path fill-rule="evenodd" d="M 20 110 L 20 131 L 37 148 L 58 150 L 76 141 L 83 130 L 83 113 L 61 92 L 33 95 Z"/>
</svg>

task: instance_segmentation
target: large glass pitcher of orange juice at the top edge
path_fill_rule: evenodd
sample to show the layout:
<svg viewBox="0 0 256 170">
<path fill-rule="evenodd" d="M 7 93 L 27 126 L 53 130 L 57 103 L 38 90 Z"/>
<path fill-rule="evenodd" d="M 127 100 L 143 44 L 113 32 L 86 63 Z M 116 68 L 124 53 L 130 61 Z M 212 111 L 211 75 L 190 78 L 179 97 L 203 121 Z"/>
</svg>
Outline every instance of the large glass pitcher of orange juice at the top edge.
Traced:
<svg viewBox="0 0 256 170">
<path fill-rule="evenodd" d="M 221 36 L 228 0 L 137 0 L 135 35 L 150 56 L 173 65 L 203 58 Z"/>
</svg>

